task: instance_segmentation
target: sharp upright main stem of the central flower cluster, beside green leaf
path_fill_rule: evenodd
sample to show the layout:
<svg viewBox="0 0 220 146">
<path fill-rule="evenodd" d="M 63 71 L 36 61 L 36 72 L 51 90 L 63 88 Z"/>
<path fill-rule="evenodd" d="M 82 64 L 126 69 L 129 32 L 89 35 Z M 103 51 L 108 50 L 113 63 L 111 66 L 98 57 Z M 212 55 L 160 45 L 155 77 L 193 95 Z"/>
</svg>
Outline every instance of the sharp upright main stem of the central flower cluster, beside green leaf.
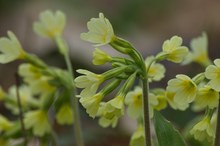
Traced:
<svg viewBox="0 0 220 146">
<path fill-rule="evenodd" d="M 143 110 L 144 110 L 144 131 L 145 146 L 151 146 L 150 113 L 149 113 L 149 82 L 147 78 L 143 82 Z"/>
</svg>

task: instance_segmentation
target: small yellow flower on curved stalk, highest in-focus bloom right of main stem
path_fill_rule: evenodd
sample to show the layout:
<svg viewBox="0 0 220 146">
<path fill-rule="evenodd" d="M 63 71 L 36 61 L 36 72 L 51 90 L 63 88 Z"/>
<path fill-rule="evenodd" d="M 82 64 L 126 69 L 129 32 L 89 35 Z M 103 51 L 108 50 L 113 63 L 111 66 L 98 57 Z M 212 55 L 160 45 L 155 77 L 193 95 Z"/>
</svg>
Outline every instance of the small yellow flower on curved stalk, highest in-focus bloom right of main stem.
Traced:
<svg viewBox="0 0 220 146">
<path fill-rule="evenodd" d="M 182 38 L 173 36 L 170 40 L 166 40 L 163 43 L 163 53 L 167 55 L 167 60 L 175 63 L 183 61 L 184 57 L 188 53 L 188 48 L 182 45 Z"/>
</svg>

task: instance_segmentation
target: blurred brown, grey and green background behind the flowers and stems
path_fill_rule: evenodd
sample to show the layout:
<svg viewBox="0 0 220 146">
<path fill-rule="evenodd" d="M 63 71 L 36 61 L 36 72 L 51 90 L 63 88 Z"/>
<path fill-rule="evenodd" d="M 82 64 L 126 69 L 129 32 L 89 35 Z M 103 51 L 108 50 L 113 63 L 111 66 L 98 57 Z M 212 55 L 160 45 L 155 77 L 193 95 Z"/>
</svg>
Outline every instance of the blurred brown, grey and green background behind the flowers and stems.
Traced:
<svg viewBox="0 0 220 146">
<path fill-rule="evenodd" d="M 86 68 L 98 73 L 109 67 L 93 66 L 94 48 L 90 43 L 80 39 L 80 33 L 87 32 L 86 23 L 90 18 L 98 17 L 99 12 L 103 12 L 110 20 L 117 36 L 132 42 L 145 57 L 158 53 L 163 41 L 173 35 L 183 37 L 184 45 L 189 46 L 190 40 L 201 35 L 203 31 L 208 34 L 210 58 L 213 60 L 219 57 L 219 0 L 0 0 L 0 36 L 6 36 L 7 31 L 11 30 L 17 35 L 25 50 L 36 53 L 48 64 L 65 68 L 53 42 L 40 38 L 32 31 L 33 21 L 38 20 L 39 13 L 47 9 L 62 10 L 67 16 L 64 38 L 71 48 L 75 69 Z M 108 47 L 103 49 L 117 55 Z M 0 85 L 4 90 L 14 83 L 14 74 L 19 63 L 16 61 L 7 65 L 0 64 Z M 202 71 L 197 64 L 164 64 L 167 68 L 166 77 L 151 87 L 166 87 L 167 81 L 178 73 L 186 73 L 192 77 Z M 2 104 L 0 112 L 7 112 Z M 179 127 L 195 116 L 191 111 L 176 112 L 171 109 L 163 113 Z M 83 109 L 81 114 L 88 146 L 128 145 L 130 134 L 135 128 L 134 121 L 125 117 L 116 129 L 106 130 L 101 128 L 96 120 L 88 118 Z M 174 114 L 180 118 L 176 118 Z M 71 139 L 68 132 L 63 132 L 67 129 L 68 127 L 58 129 L 64 133 L 60 134 L 63 145 L 68 145 L 66 143 Z"/>
</svg>

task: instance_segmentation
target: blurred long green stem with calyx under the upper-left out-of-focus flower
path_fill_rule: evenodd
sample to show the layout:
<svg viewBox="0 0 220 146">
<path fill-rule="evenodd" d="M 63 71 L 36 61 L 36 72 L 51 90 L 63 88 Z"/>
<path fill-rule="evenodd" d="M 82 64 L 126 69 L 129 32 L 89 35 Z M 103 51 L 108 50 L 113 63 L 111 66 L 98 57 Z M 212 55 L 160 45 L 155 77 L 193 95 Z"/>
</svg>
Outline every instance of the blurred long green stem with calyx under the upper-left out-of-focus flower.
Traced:
<svg viewBox="0 0 220 146">
<path fill-rule="evenodd" d="M 68 54 L 69 49 L 61 37 L 56 38 L 56 43 L 58 44 L 58 47 L 60 49 L 61 54 L 64 55 L 67 69 L 68 69 L 68 72 L 71 76 L 71 80 L 72 80 L 72 84 L 73 84 L 73 89 L 70 89 L 70 90 L 72 90 L 71 96 L 70 96 L 70 104 L 72 107 L 72 112 L 73 112 L 73 117 L 74 117 L 73 128 L 74 128 L 74 133 L 75 133 L 75 140 L 76 140 L 77 146 L 84 146 L 83 138 L 82 138 L 80 114 L 79 114 L 79 102 L 76 97 L 76 87 L 74 84 L 75 77 L 74 77 L 74 73 L 73 73 L 73 68 L 72 68 L 70 56 Z"/>
</svg>

